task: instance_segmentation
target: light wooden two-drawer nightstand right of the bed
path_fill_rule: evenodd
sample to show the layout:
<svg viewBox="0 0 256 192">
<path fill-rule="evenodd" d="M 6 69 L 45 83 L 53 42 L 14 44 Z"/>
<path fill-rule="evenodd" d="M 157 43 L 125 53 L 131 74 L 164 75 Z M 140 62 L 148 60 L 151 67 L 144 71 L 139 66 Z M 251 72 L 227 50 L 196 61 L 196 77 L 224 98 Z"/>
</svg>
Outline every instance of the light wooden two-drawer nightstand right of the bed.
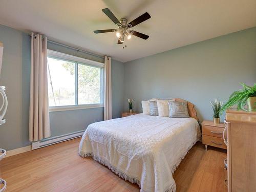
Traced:
<svg viewBox="0 0 256 192">
<path fill-rule="evenodd" d="M 203 144 L 205 144 L 205 151 L 207 151 L 208 145 L 227 149 L 227 145 L 224 143 L 222 138 L 224 128 L 224 123 L 214 124 L 213 121 L 202 122 L 202 137 Z"/>
</svg>

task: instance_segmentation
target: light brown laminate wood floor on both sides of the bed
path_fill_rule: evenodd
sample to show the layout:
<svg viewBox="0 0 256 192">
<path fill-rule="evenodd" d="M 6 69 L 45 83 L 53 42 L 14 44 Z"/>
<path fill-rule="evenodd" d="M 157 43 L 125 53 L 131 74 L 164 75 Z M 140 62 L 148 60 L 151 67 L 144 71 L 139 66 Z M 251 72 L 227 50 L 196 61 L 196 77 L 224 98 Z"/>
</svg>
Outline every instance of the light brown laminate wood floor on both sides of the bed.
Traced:
<svg viewBox="0 0 256 192">
<path fill-rule="evenodd" d="M 139 191 L 92 158 L 81 158 L 80 138 L 7 157 L 0 162 L 0 177 L 10 191 Z M 198 142 L 177 168 L 174 179 L 180 191 L 227 191 L 224 185 L 226 151 Z"/>
</svg>

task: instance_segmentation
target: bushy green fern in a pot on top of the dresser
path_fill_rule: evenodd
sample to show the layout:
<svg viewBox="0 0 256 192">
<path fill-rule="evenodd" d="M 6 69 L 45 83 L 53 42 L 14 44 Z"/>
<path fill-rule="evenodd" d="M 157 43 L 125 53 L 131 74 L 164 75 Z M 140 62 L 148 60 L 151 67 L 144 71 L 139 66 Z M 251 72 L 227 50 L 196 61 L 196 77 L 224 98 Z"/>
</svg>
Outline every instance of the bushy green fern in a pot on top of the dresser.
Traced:
<svg viewBox="0 0 256 192">
<path fill-rule="evenodd" d="M 245 83 L 241 83 L 243 89 L 234 91 L 228 101 L 223 105 L 221 113 L 233 105 L 237 105 L 238 110 L 244 111 L 256 111 L 256 83 L 253 87 L 247 86 Z M 245 109 L 245 105 L 248 105 L 248 109 Z"/>
</svg>

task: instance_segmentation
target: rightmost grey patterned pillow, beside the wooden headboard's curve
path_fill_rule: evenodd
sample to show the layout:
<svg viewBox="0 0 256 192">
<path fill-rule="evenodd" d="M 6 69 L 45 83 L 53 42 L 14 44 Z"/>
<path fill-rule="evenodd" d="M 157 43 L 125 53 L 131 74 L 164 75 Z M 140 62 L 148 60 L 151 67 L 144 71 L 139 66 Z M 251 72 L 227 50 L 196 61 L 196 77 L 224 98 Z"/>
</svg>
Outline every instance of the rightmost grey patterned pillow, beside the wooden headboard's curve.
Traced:
<svg viewBox="0 0 256 192">
<path fill-rule="evenodd" d="M 168 101 L 169 104 L 169 118 L 189 117 L 187 110 L 187 101 Z"/>
</svg>

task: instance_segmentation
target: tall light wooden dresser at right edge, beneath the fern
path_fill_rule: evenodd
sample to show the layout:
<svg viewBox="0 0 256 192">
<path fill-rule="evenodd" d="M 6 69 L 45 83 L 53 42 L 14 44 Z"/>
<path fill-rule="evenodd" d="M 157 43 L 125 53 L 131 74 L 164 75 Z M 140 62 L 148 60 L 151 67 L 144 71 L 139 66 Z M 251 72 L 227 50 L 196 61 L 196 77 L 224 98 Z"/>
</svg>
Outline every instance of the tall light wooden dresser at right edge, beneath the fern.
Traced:
<svg viewBox="0 0 256 192">
<path fill-rule="evenodd" d="M 228 191 L 256 191 L 256 112 L 226 111 Z"/>
</svg>

